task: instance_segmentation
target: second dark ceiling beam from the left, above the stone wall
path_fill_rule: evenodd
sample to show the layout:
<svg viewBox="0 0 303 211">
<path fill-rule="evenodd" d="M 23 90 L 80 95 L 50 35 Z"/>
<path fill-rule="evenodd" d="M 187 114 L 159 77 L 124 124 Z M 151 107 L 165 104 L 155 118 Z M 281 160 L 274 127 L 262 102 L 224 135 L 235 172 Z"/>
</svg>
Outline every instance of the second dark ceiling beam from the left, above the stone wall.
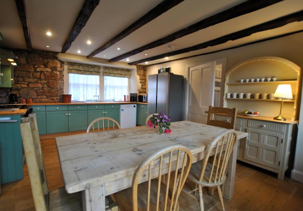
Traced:
<svg viewBox="0 0 303 211">
<path fill-rule="evenodd" d="M 76 37 L 80 34 L 99 2 L 100 0 L 85 0 L 61 53 L 65 53 L 71 47 L 72 42 L 75 41 Z"/>
</svg>

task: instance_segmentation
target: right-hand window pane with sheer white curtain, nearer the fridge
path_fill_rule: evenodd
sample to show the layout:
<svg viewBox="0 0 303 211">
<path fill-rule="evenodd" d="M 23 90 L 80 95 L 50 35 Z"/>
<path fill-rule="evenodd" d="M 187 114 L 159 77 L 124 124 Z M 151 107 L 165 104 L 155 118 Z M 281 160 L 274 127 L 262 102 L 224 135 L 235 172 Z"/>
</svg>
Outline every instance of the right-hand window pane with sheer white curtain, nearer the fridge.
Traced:
<svg viewBox="0 0 303 211">
<path fill-rule="evenodd" d="M 127 77 L 104 76 L 104 100 L 123 101 L 128 94 Z"/>
</svg>

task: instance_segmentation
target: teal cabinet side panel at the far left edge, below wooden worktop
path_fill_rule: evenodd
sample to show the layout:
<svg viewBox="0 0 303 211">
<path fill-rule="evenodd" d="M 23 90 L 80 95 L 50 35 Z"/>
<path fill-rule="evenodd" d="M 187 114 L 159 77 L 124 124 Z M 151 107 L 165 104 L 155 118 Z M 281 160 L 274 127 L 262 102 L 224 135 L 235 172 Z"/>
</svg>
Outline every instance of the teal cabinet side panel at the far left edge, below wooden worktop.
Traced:
<svg viewBox="0 0 303 211">
<path fill-rule="evenodd" d="M 1 183 L 23 179 L 21 116 L 0 116 Z"/>
</svg>

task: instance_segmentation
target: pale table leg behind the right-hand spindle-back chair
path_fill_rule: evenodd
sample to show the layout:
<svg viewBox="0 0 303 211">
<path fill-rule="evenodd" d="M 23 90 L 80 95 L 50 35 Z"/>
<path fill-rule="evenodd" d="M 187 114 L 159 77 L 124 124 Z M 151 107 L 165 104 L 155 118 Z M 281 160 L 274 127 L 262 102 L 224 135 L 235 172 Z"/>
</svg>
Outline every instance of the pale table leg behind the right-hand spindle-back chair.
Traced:
<svg viewBox="0 0 303 211">
<path fill-rule="evenodd" d="M 236 140 L 234 150 L 229 157 L 228 166 L 226 169 L 226 180 L 223 183 L 222 195 L 225 199 L 231 199 L 234 196 L 234 185 L 236 176 L 236 163 L 238 155 L 238 141 Z"/>
</svg>

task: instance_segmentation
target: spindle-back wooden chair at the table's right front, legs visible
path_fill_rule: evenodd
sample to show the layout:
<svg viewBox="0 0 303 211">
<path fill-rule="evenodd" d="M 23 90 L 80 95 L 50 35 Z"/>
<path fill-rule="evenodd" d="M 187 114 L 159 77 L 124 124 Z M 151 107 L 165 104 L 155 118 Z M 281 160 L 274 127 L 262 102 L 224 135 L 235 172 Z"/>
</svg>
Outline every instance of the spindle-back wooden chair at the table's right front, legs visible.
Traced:
<svg viewBox="0 0 303 211">
<path fill-rule="evenodd" d="M 237 134 L 235 133 L 235 130 L 229 129 L 223 131 L 208 145 L 202 163 L 196 162 L 191 166 L 187 179 L 194 182 L 196 184 L 196 188 L 188 192 L 186 190 L 183 191 L 187 193 L 196 193 L 198 190 L 201 211 L 204 210 L 202 198 L 203 186 L 217 188 L 222 210 L 225 210 L 220 185 L 222 185 L 226 179 L 225 170 L 236 140 Z M 225 149 L 224 152 L 223 149 Z M 212 162 L 209 162 L 208 159 L 210 159 L 213 151 L 215 151 L 215 156 L 212 158 Z"/>
</svg>

